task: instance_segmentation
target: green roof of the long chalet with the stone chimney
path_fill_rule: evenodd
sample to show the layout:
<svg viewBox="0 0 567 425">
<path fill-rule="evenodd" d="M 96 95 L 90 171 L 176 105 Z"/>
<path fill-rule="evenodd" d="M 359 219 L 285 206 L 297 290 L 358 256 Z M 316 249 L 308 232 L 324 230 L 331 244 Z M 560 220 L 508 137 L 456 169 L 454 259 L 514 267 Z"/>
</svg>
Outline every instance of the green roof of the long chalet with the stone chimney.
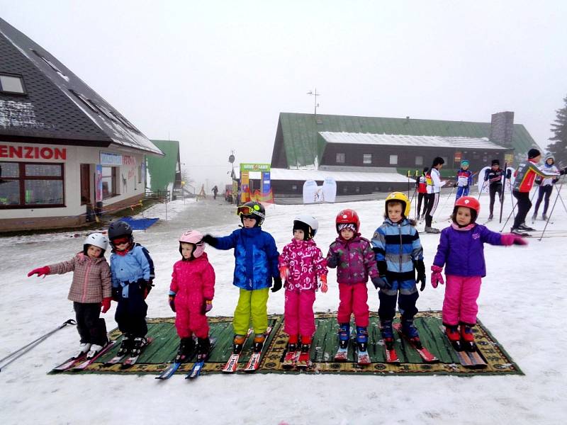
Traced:
<svg viewBox="0 0 567 425">
<path fill-rule="evenodd" d="M 317 121 L 315 121 L 317 120 Z M 354 117 L 348 115 L 315 115 L 286 113 L 279 115 L 281 132 L 276 133 L 274 154 L 283 143 L 287 166 L 314 164 L 315 157 L 322 157 L 325 142 L 318 140 L 318 132 L 366 132 L 388 135 L 489 137 L 490 123 L 467 121 L 416 120 L 413 118 Z M 524 154 L 537 145 L 522 124 L 514 125 L 512 147 L 516 154 Z"/>
</svg>

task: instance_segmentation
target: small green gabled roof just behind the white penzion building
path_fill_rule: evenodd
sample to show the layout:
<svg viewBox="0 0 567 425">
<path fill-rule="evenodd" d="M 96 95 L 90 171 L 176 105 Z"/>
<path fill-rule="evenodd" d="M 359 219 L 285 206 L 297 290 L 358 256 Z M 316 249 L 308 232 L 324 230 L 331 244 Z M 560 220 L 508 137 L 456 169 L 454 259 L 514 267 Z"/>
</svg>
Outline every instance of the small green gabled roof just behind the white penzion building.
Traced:
<svg viewBox="0 0 567 425">
<path fill-rule="evenodd" d="M 163 157 L 147 156 L 147 171 L 150 174 L 150 190 L 164 191 L 175 182 L 179 162 L 179 142 L 177 140 L 152 140 L 164 153 Z"/>
</svg>

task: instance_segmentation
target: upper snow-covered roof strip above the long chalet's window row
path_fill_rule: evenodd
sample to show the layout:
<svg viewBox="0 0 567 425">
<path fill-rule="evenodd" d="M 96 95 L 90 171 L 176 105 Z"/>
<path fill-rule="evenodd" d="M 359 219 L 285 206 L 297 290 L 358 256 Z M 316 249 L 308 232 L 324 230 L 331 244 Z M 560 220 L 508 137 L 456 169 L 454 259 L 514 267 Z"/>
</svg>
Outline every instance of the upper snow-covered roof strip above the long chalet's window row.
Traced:
<svg viewBox="0 0 567 425">
<path fill-rule="evenodd" d="M 487 137 L 451 137 L 451 136 L 412 136 L 386 135 L 357 132 L 319 132 L 327 143 L 347 143 L 352 145 L 395 145 L 420 147 L 458 147 L 468 149 L 495 149 L 504 151 L 507 148 L 490 142 Z"/>
</svg>

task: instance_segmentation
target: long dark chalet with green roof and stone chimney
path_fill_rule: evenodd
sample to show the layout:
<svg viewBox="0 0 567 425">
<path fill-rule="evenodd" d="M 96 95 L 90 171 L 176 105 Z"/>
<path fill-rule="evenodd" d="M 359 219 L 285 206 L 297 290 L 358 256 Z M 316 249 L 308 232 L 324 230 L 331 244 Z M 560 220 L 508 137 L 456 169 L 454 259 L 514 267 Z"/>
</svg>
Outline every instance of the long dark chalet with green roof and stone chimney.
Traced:
<svg viewBox="0 0 567 425">
<path fill-rule="evenodd" d="M 274 196 L 301 196 L 305 180 L 337 181 L 337 196 L 407 190 L 407 174 L 443 157 L 442 176 L 467 159 L 478 171 L 492 159 L 517 164 L 537 147 L 513 112 L 490 123 L 280 113 L 271 157 Z"/>
</svg>

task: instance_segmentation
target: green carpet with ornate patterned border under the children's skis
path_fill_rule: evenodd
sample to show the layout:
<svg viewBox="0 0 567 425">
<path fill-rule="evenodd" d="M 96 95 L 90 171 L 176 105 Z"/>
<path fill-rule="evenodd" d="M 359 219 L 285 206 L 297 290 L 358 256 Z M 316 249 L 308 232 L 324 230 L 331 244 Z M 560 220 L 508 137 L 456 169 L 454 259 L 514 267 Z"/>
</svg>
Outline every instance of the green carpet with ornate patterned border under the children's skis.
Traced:
<svg viewBox="0 0 567 425">
<path fill-rule="evenodd" d="M 512 358 L 504 348 L 498 344 L 488 329 L 480 322 L 474 328 L 475 339 L 485 358 L 487 365 L 481 369 L 465 368 L 456 356 L 449 341 L 442 333 L 440 312 L 420 312 L 415 317 L 415 326 L 420 331 L 423 345 L 439 359 L 438 363 L 424 363 L 420 355 L 405 339 L 396 339 L 395 350 L 400 358 L 400 364 L 385 363 L 385 353 L 378 327 L 376 313 L 371 313 L 369 326 L 369 354 L 371 365 L 361 367 L 353 363 L 354 353 L 349 349 L 349 361 L 337 363 L 334 361 L 337 351 L 337 318 L 336 313 L 315 314 L 317 331 L 311 346 L 310 359 L 313 365 L 308 370 L 283 370 L 281 361 L 287 344 L 287 335 L 283 332 L 283 316 L 269 316 L 272 331 L 264 346 L 264 356 L 257 373 L 347 373 L 361 375 L 502 375 L 520 374 Z M 174 358 L 179 346 L 179 337 L 176 334 L 174 318 L 147 319 L 147 336 L 153 338 L 152 343 L 142 352 L 138 363 L 132 368 L 121 369 L 120 365 L 103 366 L 116 355 L 120 345 L 121 334 L 118 329 L 111 331 L 111 339 L 117 340 L 110 351 L 82 371 L 68 370 L 62 373 L 116 373 L 116 374 L 159 374 L 167 368 Z M 223 366 L 232 351 L 232 317 L 210 317 L 210 336 L 214 338 L 215 346 L 210 353 L 208 362 L 203 368 L 202 375 L 208 373 L 221 373 Z M 240 357 L 240 366 L 243 368 L 252 353 L 252 337 L 247 339 Z M 63 360 L 63 359 L 61 359 Z M 193 363 L 181 365 L 178 374 L 188 372 Z M 61 373 L 61 372 L 60 372 Z M 237 372 L 240 373 L 240 370 Z"/>
</svg>

